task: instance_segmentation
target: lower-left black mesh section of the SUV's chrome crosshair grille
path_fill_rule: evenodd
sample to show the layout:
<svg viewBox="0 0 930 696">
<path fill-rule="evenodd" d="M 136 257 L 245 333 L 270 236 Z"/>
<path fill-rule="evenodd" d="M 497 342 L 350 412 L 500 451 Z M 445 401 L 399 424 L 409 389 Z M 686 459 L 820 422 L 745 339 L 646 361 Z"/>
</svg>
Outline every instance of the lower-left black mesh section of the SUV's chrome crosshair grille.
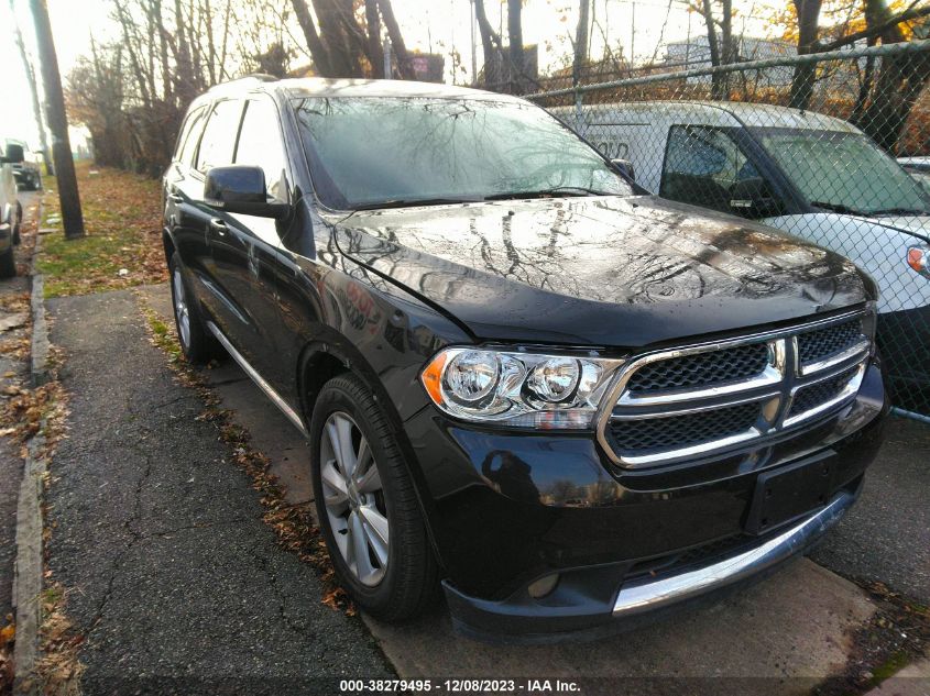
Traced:
<svg viewBox="0 0 930 696">
<path fill-rule="evenodd" d="M 758 402 L 751 402 L 682 416 L 615 421 L 611 434 L 621 451 L 639 454 L 687 448 L 745 433 L 756 424 L 759 408 Z"/>
</svg>

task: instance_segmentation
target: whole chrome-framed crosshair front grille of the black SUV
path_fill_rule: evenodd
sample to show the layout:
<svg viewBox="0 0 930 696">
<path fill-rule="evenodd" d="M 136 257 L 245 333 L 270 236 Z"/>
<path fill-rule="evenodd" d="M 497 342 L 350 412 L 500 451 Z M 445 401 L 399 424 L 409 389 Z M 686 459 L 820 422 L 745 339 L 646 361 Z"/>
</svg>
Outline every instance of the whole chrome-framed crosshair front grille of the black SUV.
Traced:
<svg viewBox="0 0 930 696">
<path fill-rule="evenodd" d="M 598 439 L 621 466 L 661 465 L 732 451 L 842 408 L 868 360 L 867 350 L 850 351 L 865 344 L 863 317 L 633 358 Z"/>
</svg>

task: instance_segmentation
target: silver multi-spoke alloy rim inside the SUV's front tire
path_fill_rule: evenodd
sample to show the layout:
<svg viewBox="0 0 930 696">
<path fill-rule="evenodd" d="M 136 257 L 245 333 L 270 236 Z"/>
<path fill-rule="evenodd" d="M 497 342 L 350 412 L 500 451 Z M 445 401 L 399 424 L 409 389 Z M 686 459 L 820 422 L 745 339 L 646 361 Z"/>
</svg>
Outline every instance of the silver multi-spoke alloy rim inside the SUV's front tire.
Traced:
<svg viewBox="0 0 930 696">
<path fill-rule="evenodd" d="M 387 570 L 390 529 L 381 475 L 351 416 L 330 413 L 320 438 L 324 504 L 336 545 L 355 578 L 374 587 Z"/>
</svg>

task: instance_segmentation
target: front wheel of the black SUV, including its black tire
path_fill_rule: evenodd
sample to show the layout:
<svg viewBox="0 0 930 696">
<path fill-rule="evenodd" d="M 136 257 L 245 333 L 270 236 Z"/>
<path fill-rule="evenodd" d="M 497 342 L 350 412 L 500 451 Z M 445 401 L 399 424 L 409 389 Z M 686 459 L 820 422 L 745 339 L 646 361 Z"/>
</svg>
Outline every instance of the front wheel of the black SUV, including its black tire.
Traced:
<svg viewBox="0 0 930 696">
<path fill-rule="evenodd" d="M 337 456 L 342 442 L 352 451 Z M 348 485 L 340 463 L 358 463 L 362 442 L 370 456 L 362 456 L 362 471 L 355 469 Z M 320 390 L 310 419 L 310 453 L 319 526 L 352 600 L 392 622 L 429 608 L 438 568 L 407 464 L 387 419 L 354 375 L 333 377 Z"/>
</svg>

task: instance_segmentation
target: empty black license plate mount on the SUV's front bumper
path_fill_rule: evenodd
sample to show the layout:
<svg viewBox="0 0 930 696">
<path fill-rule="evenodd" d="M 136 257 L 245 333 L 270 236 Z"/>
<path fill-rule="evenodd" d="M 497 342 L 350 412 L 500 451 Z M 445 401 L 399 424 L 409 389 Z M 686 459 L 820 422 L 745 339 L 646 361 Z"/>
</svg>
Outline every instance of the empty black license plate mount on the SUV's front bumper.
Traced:
<svg viewBox="0 0 930 696">
<path fill-rule="evenodd" d="M 764 534 L 825 506 L 833 489 L 832 456 L 832 452 L 825 452 L 817 459 L 759 474 L 745 531 Z"/>
</svg>

